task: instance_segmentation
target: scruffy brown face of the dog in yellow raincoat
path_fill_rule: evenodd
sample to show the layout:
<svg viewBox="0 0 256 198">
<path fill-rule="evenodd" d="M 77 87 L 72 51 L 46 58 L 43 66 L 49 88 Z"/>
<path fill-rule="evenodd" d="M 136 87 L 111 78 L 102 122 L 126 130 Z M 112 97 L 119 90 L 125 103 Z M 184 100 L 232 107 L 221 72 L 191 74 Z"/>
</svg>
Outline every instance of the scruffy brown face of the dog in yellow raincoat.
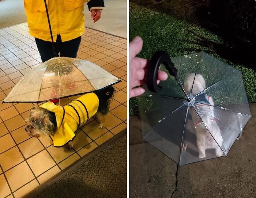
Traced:
<svg viewBox="0 0 256 198">
<path fill-rule="evenodd" d="M 36 106 L 29 112 L 25 130 L 30 137 L 41 137 L 54 134 L 57 127 L 50 121 L 49 111 Z"/>
</svg>

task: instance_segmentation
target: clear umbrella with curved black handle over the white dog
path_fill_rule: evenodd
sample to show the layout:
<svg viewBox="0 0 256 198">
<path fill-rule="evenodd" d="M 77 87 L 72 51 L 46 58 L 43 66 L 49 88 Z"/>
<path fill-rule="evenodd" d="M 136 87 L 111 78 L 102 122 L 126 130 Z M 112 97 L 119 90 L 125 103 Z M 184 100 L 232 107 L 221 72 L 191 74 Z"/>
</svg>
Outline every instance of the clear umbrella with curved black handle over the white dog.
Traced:
<svg viewBox="0 0 256 198">
<path fill-rule="evenodd" d="M 161 64 L 170 75 L 159 86 L 156 80 Z M 188 74 L 193 75 L 193 83 L 196 74 L 203 76 L 203 91 L 192 95 L 194 84 L 189 92 L 184 90 L 181 82 Z M 172 59 L 166 52 L 156 52 L 148 66 L 145 88 L 139 97 L 143 139 L 179 165 L 227 156 L 251 118 L 241 71 L 205 52 Z M 204 101 L 209 97 L 213 105 Z"/>
</svg>

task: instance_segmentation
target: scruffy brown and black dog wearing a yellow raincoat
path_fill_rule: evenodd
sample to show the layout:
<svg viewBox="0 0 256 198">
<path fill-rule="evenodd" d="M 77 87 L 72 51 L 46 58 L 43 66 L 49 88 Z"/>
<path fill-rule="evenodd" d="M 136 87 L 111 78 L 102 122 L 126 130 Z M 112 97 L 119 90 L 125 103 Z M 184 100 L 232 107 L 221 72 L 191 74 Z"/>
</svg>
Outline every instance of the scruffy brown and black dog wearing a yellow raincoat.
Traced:
<svg viewBox="0 0 256 198">
<path fill-rule="evenodd" d="M 56 106 L 54 103 L 45 103 L 46 106 L 42 105 L 44 108 L 35 106 L 30 110 L 29 117 L 26 119 L 25 130 L 30 137 L 38 138 L 49 135 L 54 146 L 60 147 L 68 144 L 69 149 L 72 149 L 75 131 L 91 117 L 96 115 L 100 121 L 99 128 L 105 127 L 105 118 L 115 91 L 113 87 L 107 87 L 84 94 L 63 107 Z M 92 101 L 88 101 L 88 97 L 92 98 Z"/>
</svg>

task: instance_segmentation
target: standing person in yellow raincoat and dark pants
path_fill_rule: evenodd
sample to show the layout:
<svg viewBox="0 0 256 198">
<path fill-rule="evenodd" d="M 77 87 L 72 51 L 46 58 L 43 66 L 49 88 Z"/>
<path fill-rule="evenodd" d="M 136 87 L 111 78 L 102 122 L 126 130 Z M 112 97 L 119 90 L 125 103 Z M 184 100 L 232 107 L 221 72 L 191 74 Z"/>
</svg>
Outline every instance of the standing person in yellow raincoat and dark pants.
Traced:
<svg viewBox="0 0 256 198">
<path fill-rule="evenodd" d="M 46 0 L 54 48 L 60 56 L 76 58 L 84 34 L 84 0 Z M 103 0 L 87 0 L 94 23 L 101 17 Z M 44 0 L 24 0 L 30 35 L 35 37 L 42 62 L 54 57 Z"/>
</svg>

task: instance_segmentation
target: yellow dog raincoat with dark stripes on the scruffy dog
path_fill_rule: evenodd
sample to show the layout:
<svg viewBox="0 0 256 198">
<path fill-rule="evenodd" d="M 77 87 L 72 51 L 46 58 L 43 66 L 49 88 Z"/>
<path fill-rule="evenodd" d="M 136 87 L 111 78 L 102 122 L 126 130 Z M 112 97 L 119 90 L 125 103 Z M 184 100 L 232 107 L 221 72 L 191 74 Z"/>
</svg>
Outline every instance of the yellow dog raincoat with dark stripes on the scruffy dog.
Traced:
<svg viewBox="0 0 256 198">
<path fill-rule="evenodd" d="M 53 145 L 64 146 L 75 138 L 75 131 L 93 117 L 99 107 L 99 99 L 96 94 L 84 94 L 65 106 L 57 106 L 53 102 L 47 102 L 40 107 L 55 113 L 57 131 L 50 136 Z"/>
</svg>

